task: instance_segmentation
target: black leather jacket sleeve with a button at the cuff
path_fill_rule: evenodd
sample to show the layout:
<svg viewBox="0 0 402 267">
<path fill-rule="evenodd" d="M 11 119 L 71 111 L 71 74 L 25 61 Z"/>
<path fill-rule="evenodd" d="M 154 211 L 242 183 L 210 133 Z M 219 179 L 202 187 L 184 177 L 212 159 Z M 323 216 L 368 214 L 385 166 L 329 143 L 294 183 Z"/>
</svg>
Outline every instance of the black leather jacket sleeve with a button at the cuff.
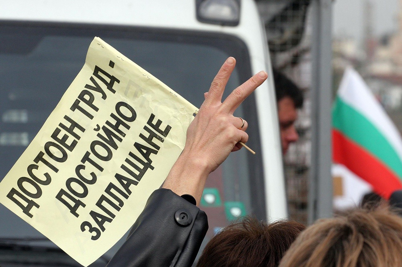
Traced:
<svg viewBox="0 0 402 267">
<path fill-rule="evenodd" d="M 171 190 L 155 190 L 107 267 L 190 267 L 207 230 L 205 212 Z"/>
</svg>

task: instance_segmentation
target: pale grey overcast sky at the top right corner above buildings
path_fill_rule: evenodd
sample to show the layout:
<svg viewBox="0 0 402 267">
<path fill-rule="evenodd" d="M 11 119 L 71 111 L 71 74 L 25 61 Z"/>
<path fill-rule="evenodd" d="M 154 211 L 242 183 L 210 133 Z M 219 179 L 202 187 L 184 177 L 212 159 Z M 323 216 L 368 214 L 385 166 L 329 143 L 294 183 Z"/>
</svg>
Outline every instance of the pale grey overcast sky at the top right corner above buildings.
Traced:
<svg viewBox="0 0 402 267">
<path fill-rule="evenodd" d="M 368 0 L 334 0 L 333 34 L 347 35 L 361 41 L 364 25 L 364 3 Z M 377 36 L 398 29 L 400 0 L 370 0 L 373 4 L 373 33 Z"/>
</svg>

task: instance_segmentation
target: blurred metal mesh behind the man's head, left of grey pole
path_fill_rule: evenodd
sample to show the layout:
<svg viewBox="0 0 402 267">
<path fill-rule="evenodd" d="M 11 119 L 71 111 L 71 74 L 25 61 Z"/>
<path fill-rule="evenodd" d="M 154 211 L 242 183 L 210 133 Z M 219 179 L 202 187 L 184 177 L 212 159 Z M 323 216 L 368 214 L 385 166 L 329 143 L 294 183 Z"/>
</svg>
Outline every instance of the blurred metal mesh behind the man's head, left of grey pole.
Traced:
<svg viewBox="0 0 402 267">
<path fill-rule="evenodd" d="M 273 67 L 289 77 L 304 93 L 304 105 L 296 121 L 299 140 L 289 147 L 284 157 L 289 217 L 303 224 L 308 222 L 308 177 L 311 165 L 309 3 L 310 0 L 258 3 L 265 20 Z M 275 8 L 277 14 L 269 12 Z"/>
</svg>

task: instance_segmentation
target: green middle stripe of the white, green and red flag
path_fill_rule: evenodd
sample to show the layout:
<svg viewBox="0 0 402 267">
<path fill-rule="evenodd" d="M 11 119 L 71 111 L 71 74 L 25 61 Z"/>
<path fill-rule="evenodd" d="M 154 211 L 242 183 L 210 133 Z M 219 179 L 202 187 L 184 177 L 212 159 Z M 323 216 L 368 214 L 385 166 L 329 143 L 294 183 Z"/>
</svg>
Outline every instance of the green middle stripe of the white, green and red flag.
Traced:
<svg viewBox="0 0 402 267">
<path fill-rule="evenodd" d="M 332 108 L 332 126 L 381 160 L 401 179 L 402 162 L 392 145 L 365 116 L 339 96 Z"/>
</svg>

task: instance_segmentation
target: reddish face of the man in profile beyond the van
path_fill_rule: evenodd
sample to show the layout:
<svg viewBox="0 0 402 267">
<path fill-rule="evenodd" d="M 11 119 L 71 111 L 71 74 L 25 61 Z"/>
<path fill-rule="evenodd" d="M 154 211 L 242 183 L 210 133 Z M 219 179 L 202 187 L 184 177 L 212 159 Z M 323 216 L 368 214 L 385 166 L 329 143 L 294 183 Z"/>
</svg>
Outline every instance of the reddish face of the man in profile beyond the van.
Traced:
<svg viewBox="0 0 402 267">
<path fill-rule="evenodd" d="M 299 135 L 295 128 L 297 110 L 293 100 L 289 96 L 281 98 L 277 104 L 282 154 L 285 155 L 289 149 L 289 145 L 299 139 Z"/>
</svg>

